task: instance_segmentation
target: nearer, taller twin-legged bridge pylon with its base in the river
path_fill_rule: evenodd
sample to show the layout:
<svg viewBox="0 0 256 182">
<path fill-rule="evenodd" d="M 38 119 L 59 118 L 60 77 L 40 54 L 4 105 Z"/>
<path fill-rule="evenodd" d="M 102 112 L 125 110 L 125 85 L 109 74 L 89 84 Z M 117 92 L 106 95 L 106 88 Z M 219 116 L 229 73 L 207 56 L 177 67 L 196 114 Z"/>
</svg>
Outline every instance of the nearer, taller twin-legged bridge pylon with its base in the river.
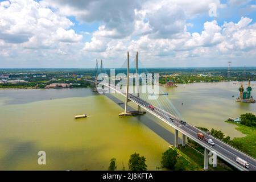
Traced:
<svg viewBox="0 0 256 182">
<path fill-rule="evenodd" d="M 128 111 L 127 107 L 128 107 L 128 101 L 129 101 L 129 67 L 130 67 L 130 56 L 129 56 L 129 52 L 127 52 L 127 82 L 126 82 L 126 98 L 125 98 L 125 111 L 118 114 L 119 116 L 129 116 L 129 115 L 141 115 L 141 114 L 146 114 L 146 111 L 141 111 L 141 107 L 138 106 L 138 110 L 133 110 L 133 111 Z M 138 79 L 138 52 L 136 55 L 136 82 L 137 82 L 137 91 L 139 91 L 139 79 Z M 137 97 L 139 97 L 139 92 Z"/>
</svg>

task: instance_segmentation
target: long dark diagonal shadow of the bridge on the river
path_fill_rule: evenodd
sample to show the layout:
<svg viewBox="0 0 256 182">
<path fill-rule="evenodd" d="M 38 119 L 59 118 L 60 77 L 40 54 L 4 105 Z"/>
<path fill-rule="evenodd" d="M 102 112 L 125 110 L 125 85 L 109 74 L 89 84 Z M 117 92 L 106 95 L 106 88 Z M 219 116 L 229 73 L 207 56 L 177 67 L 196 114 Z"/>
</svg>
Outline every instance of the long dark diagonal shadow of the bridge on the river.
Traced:
<svg viewBox="0 0 256 182">
<path fill-rule="evenodd" d="M 121 100 L 119 100 L 118 98 L 114 97 L 111 94 L 105 94 L 106 97 L 108 97 L 110 100 L 112 100 L 113 102 L 115 102 L 116 104 L 122 102 Z M 120 107 L 122 107 L 122 109 L 125 109 L 125 104 L 118 104 Z M 133 107 L 128 106 L 127 107 L 128 110 L 134 110 Z M 143 123 L 145 126 L 147 126 L 150 130 L 154 131 L 154 133 L 156 133 L 159 137 L 161 137 L 162 139 L 166 140 L 166 142 L 174 144 L 174 133 L 171 133 L 171 131 L 168 131 L 167 129 L 165 129 L 163 126 L 160 126 L 158 123 L 156 123 L 156 120 L 158 120 L 158 118 L 155 118 L 155 120 L 153 119 L 153 117 L 149 118 L 147 113 L 146 115 L 137 115 L 134 116 L 136 118 L 138 118 L 138 120 Z M 181 142 L 181 139 L 179 138 L 179 142 Z"/>
</svg>

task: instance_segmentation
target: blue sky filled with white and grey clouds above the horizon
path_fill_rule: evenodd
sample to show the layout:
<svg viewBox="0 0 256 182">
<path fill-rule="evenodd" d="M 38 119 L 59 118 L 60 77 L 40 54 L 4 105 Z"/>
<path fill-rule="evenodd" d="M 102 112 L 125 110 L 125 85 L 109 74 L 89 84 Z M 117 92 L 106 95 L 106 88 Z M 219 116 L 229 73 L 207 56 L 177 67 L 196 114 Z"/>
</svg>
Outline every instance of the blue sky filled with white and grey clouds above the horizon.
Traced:
<svg viewBox="0 0 256 182">
<path fill-rule="evenodd" d="M 0 68 L 256 66 L 256 0 L 0 0 Z"/>
</svg>

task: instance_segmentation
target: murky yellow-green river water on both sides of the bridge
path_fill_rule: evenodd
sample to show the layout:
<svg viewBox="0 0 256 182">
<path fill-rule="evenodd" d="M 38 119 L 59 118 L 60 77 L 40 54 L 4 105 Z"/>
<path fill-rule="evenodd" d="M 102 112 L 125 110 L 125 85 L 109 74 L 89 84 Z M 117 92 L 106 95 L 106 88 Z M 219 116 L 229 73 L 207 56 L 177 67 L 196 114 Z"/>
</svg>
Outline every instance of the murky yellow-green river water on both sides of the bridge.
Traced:
<svg viewBox="0 0 256 182">
<path fill-rule="evenodd" d="M 243 137 L 235 125 L 224 122 L 256 111 L 256 104 L 234 101 L 238 86 L 218 82 L 161 88 L 168 96 L 159 100 L 170 100 L 195 126 Z M 150 114 L 118 117 L 123 111 L 118 99 L 124 101 L 118 94 L 101 95 L 91 88 L 0 90 L 0 170 L 106 170 L 111 158 L 117 159 L 118 169 L 128 169 L 134 152 L 155 170 L 174 142 L 173 129 Z M 89 117 L 73 119 L 84 113 Z M 38 164 L 39 151 L 46 152 L 46 165 Z"/>
</svg>

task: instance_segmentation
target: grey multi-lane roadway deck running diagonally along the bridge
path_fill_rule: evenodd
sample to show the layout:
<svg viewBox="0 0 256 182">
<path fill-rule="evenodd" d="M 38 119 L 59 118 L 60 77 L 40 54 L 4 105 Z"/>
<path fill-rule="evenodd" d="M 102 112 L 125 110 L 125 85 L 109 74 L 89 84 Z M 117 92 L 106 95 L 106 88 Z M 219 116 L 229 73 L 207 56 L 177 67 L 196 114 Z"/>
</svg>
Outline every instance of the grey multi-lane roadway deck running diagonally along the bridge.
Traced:
<svg viewBox="0 0 256 182">
<path fill-rule="evenodd" d="M 121 89 L 118 89 L 117 87 L 115 87 L 115 85 L 111 85 L 111 84 L 102 84 L 102 85 L 108 86 L 109 88 L 114 89 L 115 91 L 122 94 L 123 96 L 126 96 L 126 94 L 123 93 Z M 174 127 L 176 130 L 180 131 L 181 133 L 185 134 L 187 137 L 199 143 L 201 146 L 207 148 L 210 151 L 216 152 L 218 157 L 220 157 L 221 159 L 224 159 L 226 162 L 228 162 L 229 164 L 232 164 L 234 167 L 244 171 L 256 171 L 256 160 L 251 156 L 237 150 L 232 146 L 229 146 L 228 144 L 222 142 L 217 138 L 212 137 L 211 135 L 205 133 L 200 129 L 197 129 L 195 126 L 192 126 L 187 122 L 185 125 L 182 124 L 181 119 L 175 117 L 174 115 L 168 113 L 163 109 L 160 109 L 159 107 L 154 106 L 154 109 L 150 109 L 149 107 L 151 105 L 150 103 L 142 100 L 139 97 L 134 96 L 133 94 L 129 93 L 128 98 L 129 100 L 135 102 L 135 104 L 138 104 L 143 109 L 147 110 L 149 113 L 154 114 L 156 117 L 160 118 L 162 121 L 164 121 L 168 125 Z M 170 118 L 172 118 L 173 121 L 171 121 Z M 204 140 L 199 140 L 197 138 L 197 133 L 203 133 L 205 135 L 205 138 L 208 138 L 208 139 L 211 138 L 215 143 L 214 146 L 212 146 L 211 144 L 209 144 Z M 246 160 L 246 162 L 250 164 L 250 168 L 243 167 L 241 166 L 241 164 L 237 163 L 236 162 L 237 157 L 243 160 Z"/>
</svg>

